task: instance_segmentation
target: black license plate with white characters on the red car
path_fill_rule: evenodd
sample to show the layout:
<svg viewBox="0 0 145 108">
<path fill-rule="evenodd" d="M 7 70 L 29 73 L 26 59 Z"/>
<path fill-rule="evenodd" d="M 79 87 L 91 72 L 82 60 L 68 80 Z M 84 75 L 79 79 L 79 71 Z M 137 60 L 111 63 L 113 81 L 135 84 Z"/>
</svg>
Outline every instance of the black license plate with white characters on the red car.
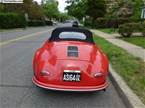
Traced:
<svg viewBox="0 0 145 108">
<path fill-rule="evenodd" d="M 64 81 L 79 82 L 81 80 L 80 71 L 64 71 L 63 73 Z"/>
</svg>

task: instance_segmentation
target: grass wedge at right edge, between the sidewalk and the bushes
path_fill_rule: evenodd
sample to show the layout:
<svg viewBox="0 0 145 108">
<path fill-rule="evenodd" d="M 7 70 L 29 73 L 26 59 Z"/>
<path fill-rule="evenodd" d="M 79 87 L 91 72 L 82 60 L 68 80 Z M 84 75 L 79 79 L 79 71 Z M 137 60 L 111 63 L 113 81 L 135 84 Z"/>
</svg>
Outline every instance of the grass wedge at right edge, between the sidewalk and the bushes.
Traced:
<svg viewBox="0 0 145 108">
<path fill-rule="evenodd" d="M 137 46 L 140 46 L 142 48 L 145 48 L 145 37 L 131 37 L 131 38 L 121 38 L 124 41 L 127 41 L 129 43 L 135 44 Z"/>
</svg>

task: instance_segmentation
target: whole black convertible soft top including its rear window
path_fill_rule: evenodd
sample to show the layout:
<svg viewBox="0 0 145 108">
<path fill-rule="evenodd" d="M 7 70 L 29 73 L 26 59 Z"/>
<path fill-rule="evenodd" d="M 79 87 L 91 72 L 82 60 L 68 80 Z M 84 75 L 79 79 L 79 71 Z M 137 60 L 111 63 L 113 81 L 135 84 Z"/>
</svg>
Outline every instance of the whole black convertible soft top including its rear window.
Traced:
<svg viewBox="0 0 145 108">
<path fill-rule="evenodd" d="M 92 32 L 78 27 L 59 27 L 53 30 L 49 41 L 83 41 L 94 43 Z"/>
</svg>

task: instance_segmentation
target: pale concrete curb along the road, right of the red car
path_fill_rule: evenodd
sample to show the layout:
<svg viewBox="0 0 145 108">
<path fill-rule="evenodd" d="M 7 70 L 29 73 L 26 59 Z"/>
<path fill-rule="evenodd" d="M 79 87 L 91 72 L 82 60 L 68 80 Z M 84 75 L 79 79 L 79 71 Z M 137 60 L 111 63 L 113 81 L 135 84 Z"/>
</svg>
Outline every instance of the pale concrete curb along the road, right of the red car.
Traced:
<svg viewBox="0 0 145 108">
<path fill-rule="evenodd" d="M 110 79 L 127 108 L 145 108 L 138 96 L 128 87 L 120 75 L 110 65 Z"/>
</svg>

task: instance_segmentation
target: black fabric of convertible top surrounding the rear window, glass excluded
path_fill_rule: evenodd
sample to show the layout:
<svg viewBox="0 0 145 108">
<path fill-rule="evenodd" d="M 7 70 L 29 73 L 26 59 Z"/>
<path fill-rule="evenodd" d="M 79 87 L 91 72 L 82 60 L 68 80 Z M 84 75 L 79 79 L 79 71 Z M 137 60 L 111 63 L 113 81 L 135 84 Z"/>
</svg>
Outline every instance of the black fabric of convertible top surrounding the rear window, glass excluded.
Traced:
<svg viewBox="0 0 145 108">
<path fill-rule="evenodd" d="M 86 36 L 85 40 L 78 40 L 78 39 L 60 39 L 59 35 L 62 32 L 79 32 L 83 33 Z M 92 32 L 84 29 L 84 28 L 77 28 L 77 27 L 59 27 L 53 30 L 49 41 L 59 41 L 59 40 L 76 40 L 76 41 L 85 41 L 89 43 L 94 43 Z"/>
</svg>

